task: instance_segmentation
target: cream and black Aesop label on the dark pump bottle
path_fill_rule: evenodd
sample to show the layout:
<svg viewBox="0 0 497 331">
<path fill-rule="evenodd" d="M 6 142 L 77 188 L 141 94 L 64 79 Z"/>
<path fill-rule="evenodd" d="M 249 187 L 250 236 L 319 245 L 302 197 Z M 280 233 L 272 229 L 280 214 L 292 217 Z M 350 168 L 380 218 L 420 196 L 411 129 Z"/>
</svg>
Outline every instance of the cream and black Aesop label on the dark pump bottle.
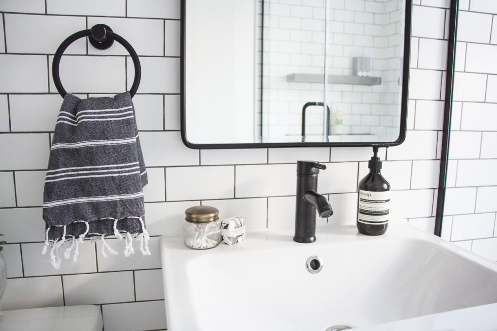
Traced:
<svg viewBox="0 0 497 331">
<path fill-rule="evenodd" d="M 390 191 L 359 190 L 358 221 L 364 224 L 387 224 L 390 215 Z"/>
</svg>

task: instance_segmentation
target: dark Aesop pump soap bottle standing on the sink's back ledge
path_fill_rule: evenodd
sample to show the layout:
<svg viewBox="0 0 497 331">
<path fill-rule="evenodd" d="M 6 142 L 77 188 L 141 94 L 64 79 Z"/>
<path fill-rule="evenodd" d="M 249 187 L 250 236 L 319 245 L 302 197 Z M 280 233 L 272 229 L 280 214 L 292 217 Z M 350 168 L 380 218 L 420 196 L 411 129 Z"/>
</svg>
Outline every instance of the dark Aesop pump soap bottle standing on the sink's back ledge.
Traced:
<svg viewBox="0 0 497 331">
<path fill-rule="evenodd" d="M 359 182 L 357 230 L 369 236 L 383 235 L 390 218 L 390 184 L 380 173 L 379 146 L 373 146 L 369 173 Z"/>
</svg>

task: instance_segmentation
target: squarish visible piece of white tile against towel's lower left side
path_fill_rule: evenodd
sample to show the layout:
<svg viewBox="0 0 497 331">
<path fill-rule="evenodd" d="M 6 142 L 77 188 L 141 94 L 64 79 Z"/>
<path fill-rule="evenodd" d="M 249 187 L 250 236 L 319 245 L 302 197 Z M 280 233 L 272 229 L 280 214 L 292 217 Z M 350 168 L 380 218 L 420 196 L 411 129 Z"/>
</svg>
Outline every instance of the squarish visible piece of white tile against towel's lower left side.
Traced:
<svg viewBox="0 0 497 331">
<path fill-rule="evenodd" d="M 38 207 L 43 205 L 45 170 L 15 171 L 15 189 L 19 207 Z"/>
</svg>

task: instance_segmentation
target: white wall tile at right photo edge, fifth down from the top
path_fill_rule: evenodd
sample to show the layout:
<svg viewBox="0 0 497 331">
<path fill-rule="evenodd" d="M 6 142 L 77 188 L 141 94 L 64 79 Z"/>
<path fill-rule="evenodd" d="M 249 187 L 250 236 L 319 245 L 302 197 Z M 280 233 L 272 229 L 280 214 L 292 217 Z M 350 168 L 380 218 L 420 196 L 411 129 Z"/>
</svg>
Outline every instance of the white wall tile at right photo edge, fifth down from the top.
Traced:
<svg viewBox="0 0 497 331">
<path fill-rule="evenodd" d="M 497 104 L 464 102 L 461 130 L 495 131 Z"/>
</svg>

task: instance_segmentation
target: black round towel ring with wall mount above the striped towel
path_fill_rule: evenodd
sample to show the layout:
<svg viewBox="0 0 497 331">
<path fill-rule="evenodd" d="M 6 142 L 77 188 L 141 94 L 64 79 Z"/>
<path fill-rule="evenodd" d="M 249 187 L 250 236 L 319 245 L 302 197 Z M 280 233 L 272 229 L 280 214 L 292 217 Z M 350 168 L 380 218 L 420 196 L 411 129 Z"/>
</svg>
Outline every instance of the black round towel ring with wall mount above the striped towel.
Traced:
<svg viewBox="0 0 497 331">
<path fill-rule="evenodd" d="M 138 90 L 138 86 L 140 85 L 140 79 L 142 77 L 142 68 L 140 66 L 140 60 L 138 59 L 138 55 L 136 54 L 135 50 L 130 45 L 130 43 L 128 43 L 126 39 L 124 39 L 120 35 L 112 32 L 112 29 L 105 24 L 97 24 L 94 25 L 91 29 L 82 30 L 70 35 L 69 37 L 66 38 L 66 40 L 62 42 L 62 44 L 55 52 L 54 60 L 52 62 L 52 77 L 54 80 L 55 87 L 57 87 L 57 90 L 59 91 L 60 95 L 64 97 L 67 94 L 66 90 L 62 86 L 61 79 L 59 77 L 59 64 L 61 61 L 62 53 L 64 53 L 66 48 L 68 48 L 68 46 L 71 45 L 71 43 L 86 36 L 88 37 L 90 44 L 98 49 L 109 48 L 114 43 L 114 40 L 120 43 L 121 45 L 123 45 L 124 48 L 126 48 L 126 50 L 131 55 L 131 58 L 133 59 L 133 64 L 135 65 L 135 80 L 133 81 L 133 85 L 131 86 L 131 89 L 129 91 L 131 97 L 133 97 L 136 91 Z"/>
</svg>

